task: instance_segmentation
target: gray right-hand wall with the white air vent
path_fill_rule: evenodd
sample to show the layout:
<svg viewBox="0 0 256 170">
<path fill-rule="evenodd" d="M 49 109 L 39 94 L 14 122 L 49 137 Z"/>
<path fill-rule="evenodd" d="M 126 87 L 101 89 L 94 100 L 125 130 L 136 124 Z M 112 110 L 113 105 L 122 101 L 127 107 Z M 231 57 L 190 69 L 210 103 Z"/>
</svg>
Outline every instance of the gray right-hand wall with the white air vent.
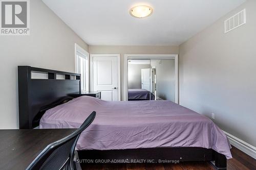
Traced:
<svg viewBox="0 0 256 170">
<path fill-rule="evenodd" d="M 246 24 L 224 34 L 224 20 L 246 9 Z M 180 45 L 180 104 L 256 146 L 256 1 L 231 11 Z"/>
</svg>

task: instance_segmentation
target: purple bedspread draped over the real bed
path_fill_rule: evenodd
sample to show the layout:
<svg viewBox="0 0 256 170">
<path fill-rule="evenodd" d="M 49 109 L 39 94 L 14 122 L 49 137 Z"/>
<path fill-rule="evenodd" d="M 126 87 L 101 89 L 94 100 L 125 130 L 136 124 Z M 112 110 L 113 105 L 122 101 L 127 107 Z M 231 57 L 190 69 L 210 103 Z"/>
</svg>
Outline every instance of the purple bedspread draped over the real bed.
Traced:
<svg viewBox="0 0 256 170">
<path fill-rule="evenodd" d="M 47 110 L 39 128 L 79 128 L 92 111 L 77 150 L 211 148 L 231 158 L 226 135 L 209 118 L 170 101 L 108 102 L 81 96 Z"/>
</svg>

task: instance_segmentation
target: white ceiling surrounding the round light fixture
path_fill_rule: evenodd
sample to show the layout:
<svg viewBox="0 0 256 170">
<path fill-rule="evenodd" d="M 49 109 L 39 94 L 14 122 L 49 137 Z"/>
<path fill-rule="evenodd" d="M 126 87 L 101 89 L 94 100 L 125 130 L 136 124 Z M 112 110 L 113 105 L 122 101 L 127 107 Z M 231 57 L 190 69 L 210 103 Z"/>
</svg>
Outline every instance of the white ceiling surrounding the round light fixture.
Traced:
<svg viewBox="0 0 256 170">
<path fill-rule="evenodd" d="M 246 0 L 42 1 L 90 45 L 179 45 Z M 134 18 L 136 5 L 154 12 Z"/>
</svg>

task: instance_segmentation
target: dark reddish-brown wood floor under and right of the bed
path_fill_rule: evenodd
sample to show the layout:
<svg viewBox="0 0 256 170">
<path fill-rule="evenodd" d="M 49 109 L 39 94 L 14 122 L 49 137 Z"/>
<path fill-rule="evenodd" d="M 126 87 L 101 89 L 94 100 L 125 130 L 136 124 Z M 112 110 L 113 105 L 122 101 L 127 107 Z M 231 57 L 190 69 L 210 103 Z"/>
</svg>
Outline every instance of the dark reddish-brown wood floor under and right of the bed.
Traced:
<svg viewBox="0 0 256 170">
<path fill-rule="evenodd" d="M 228 170 L 256 170 L 256 160 L 232 146 L 232 159 L 227 160 Z M 81 164 L 82 169 L 120 169 L 120 170 L 216 170 L 210 162 L 182 162 L 178 164 Z"/>
</svg>

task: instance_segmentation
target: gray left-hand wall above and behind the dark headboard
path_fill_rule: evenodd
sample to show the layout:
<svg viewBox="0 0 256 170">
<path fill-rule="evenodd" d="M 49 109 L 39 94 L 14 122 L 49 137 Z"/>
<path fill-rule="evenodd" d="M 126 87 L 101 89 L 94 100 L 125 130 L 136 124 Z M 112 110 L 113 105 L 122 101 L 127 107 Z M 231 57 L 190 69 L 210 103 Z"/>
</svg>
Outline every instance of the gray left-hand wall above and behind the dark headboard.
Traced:
<svg viewBox="0 0 256 170">
<path fill-rule="evenodd" d="M 17 66 L 75 71 L 75 43 L 82 41 L 40 0 L 30 1 L 30 36 L 0 37 L 0 129 L 18 128 Z"/>
</svg>

